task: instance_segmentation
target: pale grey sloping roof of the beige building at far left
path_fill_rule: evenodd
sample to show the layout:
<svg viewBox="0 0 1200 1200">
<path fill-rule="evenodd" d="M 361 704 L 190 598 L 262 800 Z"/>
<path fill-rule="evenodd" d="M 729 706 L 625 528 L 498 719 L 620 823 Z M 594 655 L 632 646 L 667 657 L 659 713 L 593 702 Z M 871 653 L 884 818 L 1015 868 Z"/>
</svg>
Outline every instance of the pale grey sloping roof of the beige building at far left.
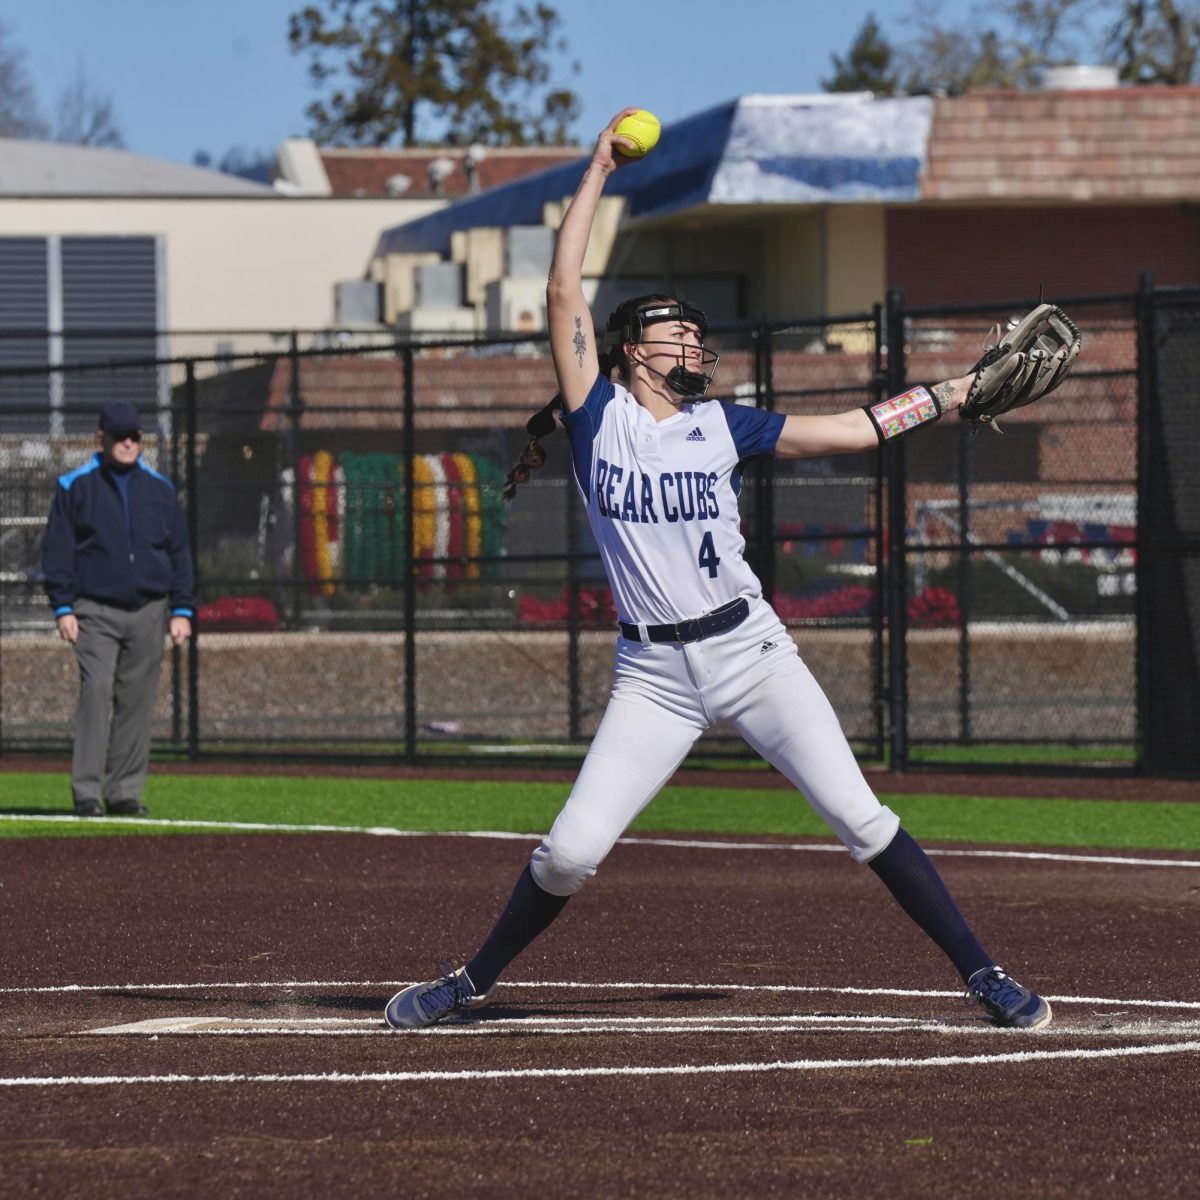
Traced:
<svg viewBox="0 0 1200 1200">
<path fill-rule="evenodd" d="M 0 138 L 0 196 L 270 197 L 262 184 L 127 150 Z"/>
</svg>

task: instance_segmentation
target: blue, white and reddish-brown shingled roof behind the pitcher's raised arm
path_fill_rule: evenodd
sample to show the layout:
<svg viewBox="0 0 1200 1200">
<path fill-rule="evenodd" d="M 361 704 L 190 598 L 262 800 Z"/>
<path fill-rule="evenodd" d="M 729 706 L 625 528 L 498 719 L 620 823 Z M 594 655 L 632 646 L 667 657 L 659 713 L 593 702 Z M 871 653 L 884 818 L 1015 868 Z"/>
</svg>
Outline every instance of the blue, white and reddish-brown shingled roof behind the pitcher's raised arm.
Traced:
<svg viewBox="0 0 1200 1200">
<path fill-rule="evenodd" d="M 376 253 L 446 253 L 455 230 L 540 224 L 586 158 L 386 230 Z M 769 204 L 1200 199 L 1200 88 L 742 96 L 664 130 L 612 176 L 632 218 Z"/>
</svg>

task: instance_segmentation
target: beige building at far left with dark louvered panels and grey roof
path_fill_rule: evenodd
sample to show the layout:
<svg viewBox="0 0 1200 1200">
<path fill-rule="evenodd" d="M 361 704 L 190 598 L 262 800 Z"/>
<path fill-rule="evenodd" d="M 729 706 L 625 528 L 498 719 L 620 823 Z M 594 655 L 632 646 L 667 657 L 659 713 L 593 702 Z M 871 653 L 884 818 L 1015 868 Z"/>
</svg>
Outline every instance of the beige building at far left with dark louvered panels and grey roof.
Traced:
<svg viewBox="0 0 1200 1200">
<path fill-rule="evenodd" d="M 118 326 L 140 331 L 142 356 L 263 350 L 272 340 L 259 331 L 347 323 L 340 296 L 350 323 L 377 325 L 361 288 L 337 286 L 362 280 L 383 229 L 446 200 L 334 194 L 305 172 L 305 146 L 281 148 L 292 178 L 266 187 L 124 151 L 0 139 L 0 365 L 70 360 L 71 340 Z M 101 338 L 90 341 L 101 355 Z"/>
</svg>

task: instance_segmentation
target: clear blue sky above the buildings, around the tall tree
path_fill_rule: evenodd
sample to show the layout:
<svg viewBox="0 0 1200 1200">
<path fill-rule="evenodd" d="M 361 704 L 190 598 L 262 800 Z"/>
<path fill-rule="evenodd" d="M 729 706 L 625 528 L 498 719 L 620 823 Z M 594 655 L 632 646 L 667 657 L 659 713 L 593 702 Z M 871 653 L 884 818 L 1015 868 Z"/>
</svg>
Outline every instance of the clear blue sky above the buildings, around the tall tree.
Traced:
<svg viewBox="0 0 1200 1200">
<path fill-rule="evenodd" d="M 82 62 L 92 86 L 112 96 L 130 150 L 191 162 L 197 150 L 215 158 L 232 146 L 274 151 L 307 132 L 304 110 L 317 92 L 306 58 L 287 44 L 288 16 L 305 2 L 0 0 L 0 19 L 25 52 L 47 116 Z M 745 92 L 818 91 L 830 55 L 845 53 L 868 12 L 886 36 L 901 40 L 914 5 L 551 2 L 564 19 L 568 64 L 580 61 L 580 73 L 563 78 L 582 101 L 575 132 L 583 143 L 625 104 L 670 124 Z M 942 4 L 955 24 L 968 7 L 968 0 Z"/>
</svg>

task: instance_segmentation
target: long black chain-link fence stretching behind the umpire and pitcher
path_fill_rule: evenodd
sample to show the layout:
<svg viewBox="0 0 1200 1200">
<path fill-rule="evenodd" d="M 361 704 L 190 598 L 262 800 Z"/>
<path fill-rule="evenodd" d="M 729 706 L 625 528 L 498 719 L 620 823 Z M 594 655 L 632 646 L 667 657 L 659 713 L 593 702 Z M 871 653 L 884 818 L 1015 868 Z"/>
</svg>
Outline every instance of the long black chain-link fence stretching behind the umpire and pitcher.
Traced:
<svg viewBox="0 0 1200 1200">
<path fill-rule="evenodd" d="M 746 557 L 864 757 L 1141 761 L 1139 335 L 1157 295 L 1073 301 L 1075 372 L 1002 433 L 943 421 L 884 452 L 746 464 Z M 962 372 L 1021 306 L 906 312 L 893 295 L 872 313 L 718 329 L 718 390 L 788 414 L 852 408 Z M 1172 407 L 1194 332 L 1156 319 Z M 188 514 L 200 601 L 198 637 L 164 672 L 160 749 L 577 757 L 607 700 L 616 614 L 565 439 L 515 503 L 500 494 L 556 388 L 544 340 L 263 338 L 0 374 L 2 748 L 67 744 L 74 661 L 37 580 L 41 534 L 55 478 L 94 449 L 96 409 L 136 397 L 156 414 L 143 454 Z M 1160 564 L 1194 571 L 1190 530 Z M 1194 638 L 1195 612 L 1176 617 Z M 697 748 L 742 754 L 721 731 Z"/>
</svg>

